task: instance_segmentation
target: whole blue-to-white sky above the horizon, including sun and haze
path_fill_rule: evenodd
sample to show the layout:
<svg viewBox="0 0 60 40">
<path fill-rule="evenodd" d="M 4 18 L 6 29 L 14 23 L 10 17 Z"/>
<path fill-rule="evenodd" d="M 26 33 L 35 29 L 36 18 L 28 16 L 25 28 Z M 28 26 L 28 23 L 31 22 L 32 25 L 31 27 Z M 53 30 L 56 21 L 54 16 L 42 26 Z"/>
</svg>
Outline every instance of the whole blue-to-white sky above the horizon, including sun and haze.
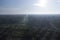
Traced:
<svg viewBox="0 0 60 40">
<path fill-rule="evenodd" d="M 0 0 L 0 14 L 60 14 L 60 0 Z"/>
</svg>

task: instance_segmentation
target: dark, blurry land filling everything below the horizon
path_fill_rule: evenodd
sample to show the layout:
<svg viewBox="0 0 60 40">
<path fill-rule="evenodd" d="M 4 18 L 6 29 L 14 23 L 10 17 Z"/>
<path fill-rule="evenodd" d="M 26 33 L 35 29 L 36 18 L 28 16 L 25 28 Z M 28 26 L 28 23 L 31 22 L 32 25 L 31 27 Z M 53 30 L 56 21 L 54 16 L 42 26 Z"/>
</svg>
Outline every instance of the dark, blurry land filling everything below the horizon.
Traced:
<svg viewBox="0 0 60 40">
<path fill-rule="evenodd" d="M 0 40 L 60 40 L 60 15 L 0 15 Z"/>
</svg>

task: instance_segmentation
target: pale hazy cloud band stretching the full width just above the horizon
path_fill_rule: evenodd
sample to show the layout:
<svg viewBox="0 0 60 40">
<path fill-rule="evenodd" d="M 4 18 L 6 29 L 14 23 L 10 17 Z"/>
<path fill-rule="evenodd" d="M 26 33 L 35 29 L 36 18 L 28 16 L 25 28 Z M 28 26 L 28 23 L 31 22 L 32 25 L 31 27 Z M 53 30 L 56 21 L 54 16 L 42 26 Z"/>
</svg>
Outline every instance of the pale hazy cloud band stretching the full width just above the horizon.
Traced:
<svg viewBox="0 0 60 40">
<path fill-rule="evenodd" d="M 60 10 L 53 9 L 23 10 L 20 8 L 0 8 L 0 14 L 60 14 Z"/>
</svg>

